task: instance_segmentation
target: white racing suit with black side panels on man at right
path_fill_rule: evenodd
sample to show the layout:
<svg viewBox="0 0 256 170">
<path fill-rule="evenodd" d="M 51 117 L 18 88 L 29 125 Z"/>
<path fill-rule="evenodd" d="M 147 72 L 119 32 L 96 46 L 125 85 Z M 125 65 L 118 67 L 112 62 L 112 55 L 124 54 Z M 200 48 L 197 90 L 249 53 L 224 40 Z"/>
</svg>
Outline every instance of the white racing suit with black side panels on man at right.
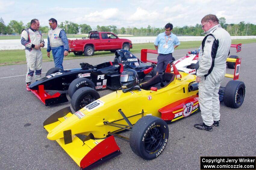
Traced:
<svg viewBox="0 0 256 170">
<path fill-rule="evenodd" d="M 205 125 L 211 126 L 220 120 L 219 88 L 225 73 L 226 59 L 229 55 L 231 36 L 220 24 L 208 31 L 199 51 L 199 69 L 196 75 L 199 82 L 199 105 Z"/>
</svg>

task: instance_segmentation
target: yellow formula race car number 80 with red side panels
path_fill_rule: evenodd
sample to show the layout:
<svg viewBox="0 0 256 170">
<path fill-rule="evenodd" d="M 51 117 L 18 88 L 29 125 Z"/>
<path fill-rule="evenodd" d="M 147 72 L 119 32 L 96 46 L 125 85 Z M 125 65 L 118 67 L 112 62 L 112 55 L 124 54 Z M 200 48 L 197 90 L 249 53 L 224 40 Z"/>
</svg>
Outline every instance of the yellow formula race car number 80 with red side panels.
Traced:
<svg viewBox="0 0 256 170">
<path fill-rule="evenodd" d="M 236 62 L 233 79 L 238 79 L 241 59 L 229 61 Z M 166 121 L 176 121 L 199 110 L 195 78 L 179 72 L 173 61 L 162 76 L 140 85 L 136 71 L 125 70 L 120 76 L 122 90 L 101 97 L 76 113 L 66 107 L 46 119 L 43 125 L 49 132 L 47 138 L 56 140 L 81 169 L 93 168 L 120 154 L 114 137 L 129 141 L 133 152 L 143 159 L 154 159 L 167 147 Z M 81 103 L 86 91 L 88 87 L 77 90 L 75 93 L 82 97 L 75 102 Z M 237 108 L 243 103 L 245 84 L 232 80 L 220 89 L 220 94 L 227 106 Z M 131 131 L 130 138 L 120 135 L 124 130 Z"/>
</svg>

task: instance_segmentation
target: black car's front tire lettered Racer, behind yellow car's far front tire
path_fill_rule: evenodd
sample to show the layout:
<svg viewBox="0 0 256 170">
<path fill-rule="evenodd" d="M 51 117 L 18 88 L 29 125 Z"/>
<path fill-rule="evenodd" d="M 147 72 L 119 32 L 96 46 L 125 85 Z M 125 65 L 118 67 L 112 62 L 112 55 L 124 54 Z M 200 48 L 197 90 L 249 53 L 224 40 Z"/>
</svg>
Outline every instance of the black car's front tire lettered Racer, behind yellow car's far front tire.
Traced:
<svg viewBox="0 0 256 170">
<path fill-rule="evenodd" d="M 93 88 L 94 90 L 96 89 L 95 84 L 89 79 L 86 79 L 83 77 L 74 79 L 70 83 L 68 90 L 67 90 L 67 93 L 68 93 L 70 99 L 72 98 L 73 94 L 81 87 L 90 87 L 90 88 Z"/>
</svg>

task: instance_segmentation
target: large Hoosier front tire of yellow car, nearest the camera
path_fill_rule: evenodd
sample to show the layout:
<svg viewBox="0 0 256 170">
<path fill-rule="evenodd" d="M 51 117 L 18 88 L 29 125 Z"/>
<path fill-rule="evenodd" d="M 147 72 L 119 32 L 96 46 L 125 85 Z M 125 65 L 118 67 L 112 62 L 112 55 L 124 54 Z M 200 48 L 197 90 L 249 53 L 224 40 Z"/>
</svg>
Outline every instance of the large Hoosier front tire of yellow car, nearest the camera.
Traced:
<svg viewBox="0 0 256 170">
<path fill-rule="evenodd" d="M 143 159 L 155 159 L 167 146 L 168 137 L 168 125 L 163 119 L 144 116 L 131 130 L 130 147 Z"/>
</svg>

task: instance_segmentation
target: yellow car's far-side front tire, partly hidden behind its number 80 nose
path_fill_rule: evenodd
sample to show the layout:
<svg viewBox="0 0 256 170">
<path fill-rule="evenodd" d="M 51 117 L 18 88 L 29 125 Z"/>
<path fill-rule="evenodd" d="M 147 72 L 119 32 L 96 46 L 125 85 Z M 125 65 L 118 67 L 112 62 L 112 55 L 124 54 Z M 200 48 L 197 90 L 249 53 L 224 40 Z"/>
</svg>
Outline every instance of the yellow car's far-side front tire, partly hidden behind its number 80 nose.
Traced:
<svg viewBox="0 0 256 170">
<path fill-rule="evenodd" d="M 71 106 L 76 112 L 99 98 L 100 95 L 93 88 L 82 87 L 73 94 Z"/>
</svg>

